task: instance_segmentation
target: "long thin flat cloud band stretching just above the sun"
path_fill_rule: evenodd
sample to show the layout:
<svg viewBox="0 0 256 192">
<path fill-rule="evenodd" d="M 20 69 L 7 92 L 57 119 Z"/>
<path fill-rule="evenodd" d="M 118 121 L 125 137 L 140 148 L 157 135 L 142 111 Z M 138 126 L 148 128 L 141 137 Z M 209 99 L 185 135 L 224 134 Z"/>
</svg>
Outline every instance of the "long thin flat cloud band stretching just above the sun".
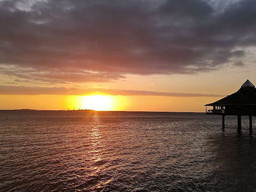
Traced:
<svg viewBox="0 0 256 192">
<path fill-rule="evenodd" d="M 223 95 L 201 93 L 176 93 L 156 92 L 141 90 L 114 90 L 105 88 L 64 88 L 64 87 L 25 87 L 25 86 L 0 86 L 0 95 L 122 95 L 122 96 L 170 96 L 170 97 L 220 97 Z"/>
</svg>

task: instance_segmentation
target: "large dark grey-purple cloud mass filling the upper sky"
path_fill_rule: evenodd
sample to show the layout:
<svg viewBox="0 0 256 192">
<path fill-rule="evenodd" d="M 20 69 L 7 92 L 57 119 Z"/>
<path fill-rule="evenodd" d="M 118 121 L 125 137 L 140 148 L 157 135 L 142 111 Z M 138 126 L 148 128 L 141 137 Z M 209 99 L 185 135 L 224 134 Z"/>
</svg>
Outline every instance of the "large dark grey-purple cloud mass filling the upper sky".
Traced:
<svg viewBox="0 0 256 192">
<path fill-rule="evenodd" d="M 210 2 L 0 1 L 0 73 L 106 82 L 127 73 L 197 73 L 242 62 L 243 49 L 256 45 L 256 1 L 231 1 L 223 11 Z"/>
</svg>

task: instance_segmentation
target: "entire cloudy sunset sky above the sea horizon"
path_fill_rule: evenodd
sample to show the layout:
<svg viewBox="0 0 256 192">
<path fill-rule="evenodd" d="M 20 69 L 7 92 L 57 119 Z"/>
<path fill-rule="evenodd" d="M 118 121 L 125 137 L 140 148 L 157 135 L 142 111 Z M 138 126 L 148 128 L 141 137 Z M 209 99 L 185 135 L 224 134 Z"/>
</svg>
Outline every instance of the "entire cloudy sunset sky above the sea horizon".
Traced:
<svg viewBox="0 0 256 192">
<path fill-rule="evenodd" d="M 203 112 L 256 83 L 254 0 L 0 0 L 0 29 L 0 109 Z"/>
</svg>

